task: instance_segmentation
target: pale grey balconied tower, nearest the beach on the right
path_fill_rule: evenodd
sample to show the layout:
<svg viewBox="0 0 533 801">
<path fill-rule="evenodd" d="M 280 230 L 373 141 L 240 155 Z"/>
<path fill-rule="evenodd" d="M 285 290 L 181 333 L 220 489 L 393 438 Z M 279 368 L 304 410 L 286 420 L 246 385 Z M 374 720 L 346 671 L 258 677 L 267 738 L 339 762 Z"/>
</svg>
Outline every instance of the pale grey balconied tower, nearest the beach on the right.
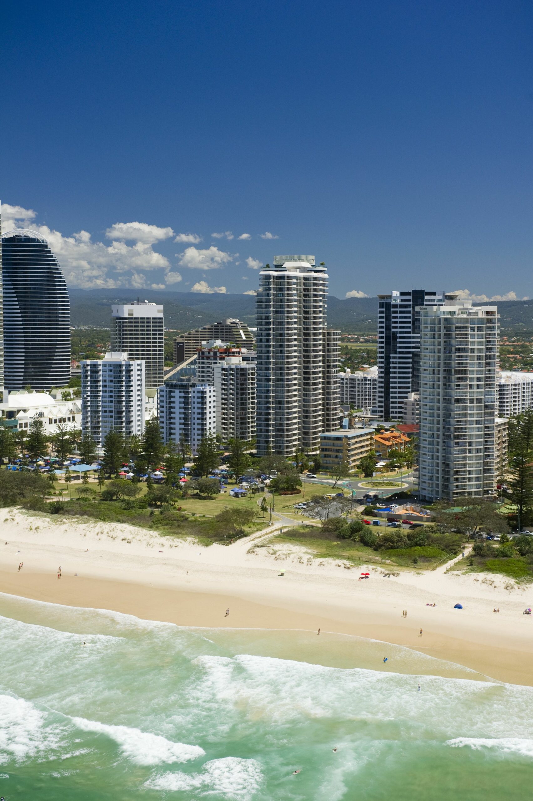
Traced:
<svg viewBox="0 0 533 801">
<path fill-rule="evenodd" d="M 498 308 L 446 296 L 421 310 L 420 495 L 495 494 Z"/>
</svg>

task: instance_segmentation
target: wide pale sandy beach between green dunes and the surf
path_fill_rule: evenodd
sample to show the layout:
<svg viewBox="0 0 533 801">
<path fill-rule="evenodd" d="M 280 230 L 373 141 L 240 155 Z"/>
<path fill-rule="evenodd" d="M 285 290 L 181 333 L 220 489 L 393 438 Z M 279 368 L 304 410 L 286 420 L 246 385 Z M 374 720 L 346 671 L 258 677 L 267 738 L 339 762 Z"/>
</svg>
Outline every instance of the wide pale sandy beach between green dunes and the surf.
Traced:
<svg viewBox="0 0 533 801">
<path fill-rule="evenodd" d="M 0 514 L 0 590 L 7 594 L 181 626 L 320 627 L 533 685 L 533 618 L 522 614 L 533 587 L 502 576 L 446 573 L 444 566 L 387 577 L 374 566 L 359 581 L 363 568 L 313 559 L 298 547 L 273 548 L 269 533 L 204 547 L 127 525 L 15 509 Z M 458 602 L 462 610 L 454 609 Z"/>
</svg>

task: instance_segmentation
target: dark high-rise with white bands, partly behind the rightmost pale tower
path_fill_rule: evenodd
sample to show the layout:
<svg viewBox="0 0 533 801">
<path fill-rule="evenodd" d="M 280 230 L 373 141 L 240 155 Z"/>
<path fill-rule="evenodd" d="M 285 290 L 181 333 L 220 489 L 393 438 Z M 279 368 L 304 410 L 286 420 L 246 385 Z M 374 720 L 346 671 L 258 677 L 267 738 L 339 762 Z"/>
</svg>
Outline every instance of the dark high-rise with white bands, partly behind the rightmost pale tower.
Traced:
<svg viewBox="0 0 533 801">
<path fill-rule="evenodd" d="M 378 413 L 402 421 L 403 401 L 420 387 L 420 312 L 442 305 L 444 294 L 412 289 L 378 295 Z"/>
</svg>

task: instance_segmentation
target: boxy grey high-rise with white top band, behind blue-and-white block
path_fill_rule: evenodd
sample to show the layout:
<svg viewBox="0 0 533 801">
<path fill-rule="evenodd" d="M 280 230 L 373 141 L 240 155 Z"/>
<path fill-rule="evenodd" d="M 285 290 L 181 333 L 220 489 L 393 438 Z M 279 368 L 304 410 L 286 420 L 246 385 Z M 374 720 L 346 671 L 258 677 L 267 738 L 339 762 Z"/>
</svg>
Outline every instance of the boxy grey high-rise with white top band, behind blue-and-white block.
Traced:
<svg viewBox="0 0 533 801">
<path fill-rule="evenodd" d="M 163 312 L 163 306 L 147 301 L 111 306 L 111 351 L 144 362 L 147 389 L 163 384 Z"/>
</svg>

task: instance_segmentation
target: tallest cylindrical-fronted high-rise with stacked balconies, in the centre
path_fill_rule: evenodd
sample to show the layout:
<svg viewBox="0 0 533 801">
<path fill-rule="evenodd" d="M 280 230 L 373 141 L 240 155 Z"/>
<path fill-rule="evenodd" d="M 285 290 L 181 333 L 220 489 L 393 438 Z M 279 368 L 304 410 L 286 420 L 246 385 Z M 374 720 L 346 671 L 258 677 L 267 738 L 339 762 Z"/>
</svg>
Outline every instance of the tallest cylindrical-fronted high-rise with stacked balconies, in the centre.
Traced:
<svg viewBox="0 0 533 801">
<path fill-rule="evenodd" d="M 328 274 L 314 256 L 274 256 L 257 293 L 257 453 L 318 453 L 339 416 L 339 332 L 326 328 Z"/>
</svg>

